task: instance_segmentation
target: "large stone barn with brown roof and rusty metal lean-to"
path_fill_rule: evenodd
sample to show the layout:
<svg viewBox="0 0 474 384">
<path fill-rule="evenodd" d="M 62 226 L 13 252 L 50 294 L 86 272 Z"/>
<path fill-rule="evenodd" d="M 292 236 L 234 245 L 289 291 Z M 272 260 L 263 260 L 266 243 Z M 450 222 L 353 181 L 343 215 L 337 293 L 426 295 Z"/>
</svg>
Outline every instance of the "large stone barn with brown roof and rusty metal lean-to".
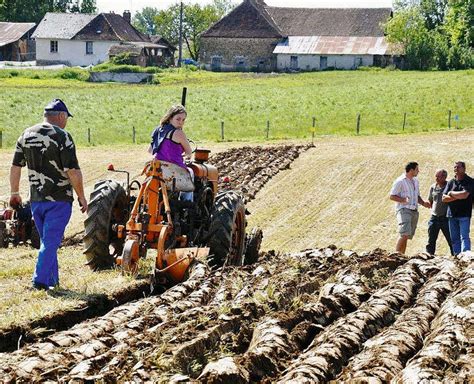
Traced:
<svg viewBox="0 0 474 384">
<path fill-rule="evenodd" d="M 212 70 L 322 70 L 384 66 L 390 8 L 279 8 L 244 0 L 201 36 Z"/>
</svg>

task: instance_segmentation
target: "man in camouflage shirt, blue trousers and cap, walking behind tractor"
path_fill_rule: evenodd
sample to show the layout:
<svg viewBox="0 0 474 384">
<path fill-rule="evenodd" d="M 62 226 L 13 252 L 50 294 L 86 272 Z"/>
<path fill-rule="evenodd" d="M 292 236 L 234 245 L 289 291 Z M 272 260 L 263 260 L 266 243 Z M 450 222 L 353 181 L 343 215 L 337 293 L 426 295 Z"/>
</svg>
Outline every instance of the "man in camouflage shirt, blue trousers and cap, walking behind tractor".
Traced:
<svg viewBox="0 0 474 384">
<path fill-rule="evenodd" d="M 28 167 L 31 211 L 41 239 L 33 288 L 48 290 L 59 283 L 58 255 L 72 211 L 73 188 L 81 212 L 87 211 L 82 173 L 71 135 L 64 130 L 72 115 L 54 99 L 44 109 L 44 122 L 27 128 L 18 138 L 10 169 L 10 205 L 21 204 L 21 168 Z"/>
</svg>

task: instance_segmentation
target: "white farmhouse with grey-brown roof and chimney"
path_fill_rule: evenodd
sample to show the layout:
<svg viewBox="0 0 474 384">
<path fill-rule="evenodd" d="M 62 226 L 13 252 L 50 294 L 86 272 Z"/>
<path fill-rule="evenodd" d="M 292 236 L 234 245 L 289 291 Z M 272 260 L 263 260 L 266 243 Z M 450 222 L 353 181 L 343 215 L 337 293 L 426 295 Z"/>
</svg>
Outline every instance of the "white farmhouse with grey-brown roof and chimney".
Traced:
<svg viewBox="0 0 474 384">
<path fill-rule="evenodd" d="M 130 24 L 130 12 L 98 15 L 47 13 L 33 37 L 38 65 L 94 65 L 108 59 L 109 48 L 119 42 L 150 43 Z"/>
</svg>

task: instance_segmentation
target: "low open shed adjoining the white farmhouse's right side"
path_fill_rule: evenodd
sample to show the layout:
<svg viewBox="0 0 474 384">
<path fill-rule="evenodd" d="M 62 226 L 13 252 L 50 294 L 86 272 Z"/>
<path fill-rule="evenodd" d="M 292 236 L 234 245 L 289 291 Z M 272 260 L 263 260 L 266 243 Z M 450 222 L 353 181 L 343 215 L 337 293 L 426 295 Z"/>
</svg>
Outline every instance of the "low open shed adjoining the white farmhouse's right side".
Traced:
<svg viewBox="0 0 474 384">
<path fill-rule="evenodd" d="M 140 65 L 142 67 L 150 65 L 164 65 L 165 58 L 163 51 L 167 46 L 153 43 L 121 43 L 112 45 L 109 48 L 109 58 L 126 54 L 129 56 L 129 64 Z"/>
</svg>

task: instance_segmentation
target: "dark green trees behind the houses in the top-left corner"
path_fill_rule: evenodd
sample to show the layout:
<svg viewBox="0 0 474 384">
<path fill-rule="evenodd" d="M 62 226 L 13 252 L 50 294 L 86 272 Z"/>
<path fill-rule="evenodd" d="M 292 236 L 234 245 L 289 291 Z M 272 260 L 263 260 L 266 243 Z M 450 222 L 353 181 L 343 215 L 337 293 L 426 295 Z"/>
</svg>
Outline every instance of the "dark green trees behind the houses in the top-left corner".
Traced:
<svg viewBox="0 0 474 384">
<path fill-rule="evenodd" d="M 0 0 L 0 20 L 39 23 L 46 12 L 96 12 L 95 0 Z"/>
</svg>

